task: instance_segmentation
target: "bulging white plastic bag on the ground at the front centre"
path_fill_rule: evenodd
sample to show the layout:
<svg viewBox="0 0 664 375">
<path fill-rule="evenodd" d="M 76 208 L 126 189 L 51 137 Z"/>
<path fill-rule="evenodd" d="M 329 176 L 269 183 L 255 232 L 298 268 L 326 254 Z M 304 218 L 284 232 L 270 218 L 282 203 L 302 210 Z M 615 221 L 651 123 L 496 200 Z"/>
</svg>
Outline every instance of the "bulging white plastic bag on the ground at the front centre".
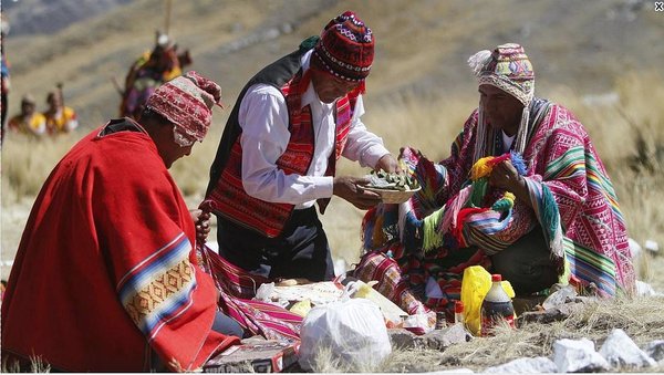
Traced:
<svg viewBox="0 0 664 375">
<path fill-rule="evenodd" d="M 364 299 L 351 299 L 313 308 L 300 332 L 300 366 L 312 371 L 321 351 L 355 369 L 372 369 L 390 353 L 392 345 L 378 306 Z"/>
</svg>

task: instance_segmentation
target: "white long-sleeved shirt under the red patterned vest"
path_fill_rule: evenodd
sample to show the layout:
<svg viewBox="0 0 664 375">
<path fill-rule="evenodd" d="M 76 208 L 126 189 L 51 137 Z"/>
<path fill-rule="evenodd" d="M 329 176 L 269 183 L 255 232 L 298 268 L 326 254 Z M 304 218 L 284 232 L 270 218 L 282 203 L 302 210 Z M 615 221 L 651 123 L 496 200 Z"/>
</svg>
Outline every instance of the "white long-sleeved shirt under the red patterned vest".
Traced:
<svg viewBox="0 0 664 375">
<path fill-rule="evenodd" d="M 311 51 L 302 56 L 302 69 L 309 69 Z M 315 199 L 332 197 L 333 177 L 324 176 L 335 145 L 335 103 L 320 101 L 313 84 L 302 95 L 302 106 L 311 105 L 314 132 L 313 160 L 305 176 L 286 175 L 277 159 L 290 140 L 289 115 L 283 94 L 268 84 L 256 84 L 247 91 L 240 104 L 238 122 L 242 128 L 242 185 L 252 197 L 295 209 L 313 206 Z M 373 168 L 388 154 L 383 139 L 366 129 L 360 117 L 364 114 L 362 96 L 357 96 L 347 143 L 342 155 L 363 167 Z"/>
</svg>

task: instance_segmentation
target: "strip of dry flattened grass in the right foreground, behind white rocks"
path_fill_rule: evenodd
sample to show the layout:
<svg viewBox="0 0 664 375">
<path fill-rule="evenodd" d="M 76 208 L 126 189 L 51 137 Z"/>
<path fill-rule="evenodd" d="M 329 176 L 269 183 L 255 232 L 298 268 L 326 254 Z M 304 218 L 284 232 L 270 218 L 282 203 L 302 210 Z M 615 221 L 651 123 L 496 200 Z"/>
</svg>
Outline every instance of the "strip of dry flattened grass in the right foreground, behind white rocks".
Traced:
<svg viewBox="0 0 664 375">
<path fill-rule="evenodd" d="M 378 372 L 421 373 L 455 368 L 470 368 L 481 372 L 487 367 L 508 363 L 520 357 L 552 357 L 553 343 L 560 338 L 594 342 L 599 351 L 609 333 L 622 329 L 636 345 L 644 347 L 654 340 L 664 337 L 663 298 L 618 298 L 613 301 L 588 303 L 584 309 L 568 320 L 551 324 L 528 324 L 517 330 L 498 327 L 496 336 L 476 337 L 470 342 L 449 346 L 446 351 L 398 350 L 384 363 L 373 367 L 360 364 L 340 363 L 324 348 L 318 357 L 314 369 L 319 373 Z M 362 368 L 361 368 L 362 367 Z M 664 365 L 641 368 L 640 372 L 661 372 Z M 633 368 L 620 368 L 631 372 Z"/>
</svg>

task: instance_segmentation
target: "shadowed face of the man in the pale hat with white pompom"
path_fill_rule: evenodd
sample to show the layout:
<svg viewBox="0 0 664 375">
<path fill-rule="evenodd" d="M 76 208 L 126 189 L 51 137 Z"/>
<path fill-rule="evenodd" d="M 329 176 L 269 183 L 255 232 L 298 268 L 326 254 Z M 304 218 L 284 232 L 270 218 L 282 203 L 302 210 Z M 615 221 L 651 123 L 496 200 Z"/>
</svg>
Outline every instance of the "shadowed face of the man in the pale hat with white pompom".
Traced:
<svg viewBox="0 0 664 375">
<path fill-rule="evenodd" d="M 485 122 L 495 129 L 515 135 L 519 131 L 523 104 L 512 95 L 492 85 L 479 86 L 479 106 Z"/>
</svg>

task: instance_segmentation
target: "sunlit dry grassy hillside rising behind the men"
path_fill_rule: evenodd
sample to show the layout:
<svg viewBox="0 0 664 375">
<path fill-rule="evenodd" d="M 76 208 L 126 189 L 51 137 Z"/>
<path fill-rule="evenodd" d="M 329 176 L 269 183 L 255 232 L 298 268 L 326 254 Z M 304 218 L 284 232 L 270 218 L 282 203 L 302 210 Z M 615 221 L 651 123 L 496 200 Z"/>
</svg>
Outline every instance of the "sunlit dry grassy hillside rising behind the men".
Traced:
<svg viewBox="0 0 664 375">
<path fill-rule="evenodd" d="M 12 8 L 35 1 L 21 0 Z M 165 3 L 134 1 L 54 33 L 7 39 L 10 114 L 28 92 L 44 110 L 46 92 L 63 82 L 65 102 L 80 113 L 83 128 L 39 144 L 6 138 L 3 260 L 13 257 L 27 208 L 56 160 L 87 129 L 117 115 L 120 97 L 111 80 L 122 82 L 131 62 L 153 45 L 155 30 L 164 28 Z M 232 106 L 256 71 L 353 9 L 376 35 L 365 123 L 395 153 L 412 145 L 433 159 L 448 154 L 452 138 L 477 104 L 467 58 L 498 43 L 519 42 L 533 62 L 538 94 L 562 102 L 588 125 L 616 185 L 630 236 L 664 243 L 664 210 L 653 204 L 664 198 L 664 156 L 656 157 L 664 149 L 664 90 L 656 73 L 664 49 L 655 48 L 664 34 L 664 15 L 652 8 L 652 1 L 626 0 L 191 0 L 173 1 L 170 34 L 181 49 L 190 49 L 191 69 L 219 82 Z M 230 112 L 215 111 L 208 139 L 173 168 L 191 205 L 200 201 Z M 641 146 L 637 132 L 644 138 Z M 650 169 L 630 168 L 636 148 L 644 160 L 654 160 L 647 162 Z M 347 162 L 340 171 L 364 173 Z M 361 218 L 361 211 L 339 199 L 323 218 L 335 254 L 351 262 L 359 254 Z"/>
</svg>

